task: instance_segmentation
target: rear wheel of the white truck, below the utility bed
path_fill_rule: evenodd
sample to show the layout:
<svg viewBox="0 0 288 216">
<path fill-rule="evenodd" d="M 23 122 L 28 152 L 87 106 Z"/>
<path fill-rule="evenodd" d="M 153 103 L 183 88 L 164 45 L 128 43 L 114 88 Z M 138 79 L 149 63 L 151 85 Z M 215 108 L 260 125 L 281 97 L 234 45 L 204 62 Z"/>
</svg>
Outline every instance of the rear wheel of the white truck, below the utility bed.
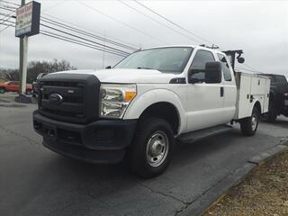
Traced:
<svg viewBox="0 0 288 216">
<path fill-rule="evenodd" d="M 257 107 L 253 108 L 252 115 L 240 121 L 241 131 L 246 136 L 254 136 L 259 123 L 259 111 Z"/>
</svg>

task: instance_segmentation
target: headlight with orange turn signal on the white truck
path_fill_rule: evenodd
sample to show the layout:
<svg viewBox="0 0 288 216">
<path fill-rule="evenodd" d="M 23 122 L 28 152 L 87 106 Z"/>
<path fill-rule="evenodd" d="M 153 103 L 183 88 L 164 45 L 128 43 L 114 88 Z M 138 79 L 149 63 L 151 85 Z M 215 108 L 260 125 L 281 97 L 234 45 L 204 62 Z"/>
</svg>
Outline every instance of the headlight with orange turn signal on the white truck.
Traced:
<svg viewBox="0 0 288 216">
<path fill-rule="evenodd" d="M 122 118 L 136 94 L 136 85 L 102 84 L 100 87 L 101 117 Z"/>
</svg>

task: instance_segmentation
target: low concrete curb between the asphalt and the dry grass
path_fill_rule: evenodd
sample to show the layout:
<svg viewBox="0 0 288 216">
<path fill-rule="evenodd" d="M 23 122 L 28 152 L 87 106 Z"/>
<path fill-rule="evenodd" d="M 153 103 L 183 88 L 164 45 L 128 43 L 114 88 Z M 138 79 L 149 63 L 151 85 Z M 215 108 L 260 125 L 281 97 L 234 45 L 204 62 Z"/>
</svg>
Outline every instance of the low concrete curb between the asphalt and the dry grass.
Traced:
<svg viewBox="0 0 288 216">
<path fill-rule="evenodd" d="M 268 159 L 283 152 L 288 148 L 288 140 L 282 141 L 273 148 L 269 148 L 266 152 L 251 157 L 247 162 L 238 167 L 233 173 L 229 173 L 215 184 L 207 193 L 203 193 L 198 200 L 188 206 L 179 216 L 202 215 L 211 209 L 212 206 L 220 202 L 220 200 L 229 192 L 229 190 L 242 179 L 246 177 L 255 167 L 263 165 Z"/>
</svg>

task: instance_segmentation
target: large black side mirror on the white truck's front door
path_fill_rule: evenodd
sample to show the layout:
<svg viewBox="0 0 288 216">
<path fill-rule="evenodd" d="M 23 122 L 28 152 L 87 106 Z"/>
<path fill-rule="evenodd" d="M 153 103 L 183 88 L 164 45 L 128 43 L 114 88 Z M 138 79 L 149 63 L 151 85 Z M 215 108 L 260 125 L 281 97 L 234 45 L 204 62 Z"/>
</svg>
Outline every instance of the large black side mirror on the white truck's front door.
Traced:
<svg viewBox="0 0 288 216">
<path fill-rule="evenodd" d="M 205 69 L 190 69 L 188 82 L 195 83 L 220 83 L 222 79 L 221 65 L 219 61 L 211 61 L 205 64 Z"/>
</svg>

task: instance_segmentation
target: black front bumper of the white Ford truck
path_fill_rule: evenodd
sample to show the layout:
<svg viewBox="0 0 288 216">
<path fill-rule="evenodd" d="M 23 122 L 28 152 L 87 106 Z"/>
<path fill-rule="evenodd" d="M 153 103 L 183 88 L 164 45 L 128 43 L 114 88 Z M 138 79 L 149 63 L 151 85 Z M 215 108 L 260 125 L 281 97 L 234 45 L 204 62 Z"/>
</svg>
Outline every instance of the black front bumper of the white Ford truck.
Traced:
<svg viewBox="0 0 288 216">
<path fill-rule="evenodd" d="M 43 145 L 89 163 L 117 163 L 133 138 L 137 120 L 98 120 L 89 124 L 56 121 L 33 112 L 33 127 Z"/>
</svg>

